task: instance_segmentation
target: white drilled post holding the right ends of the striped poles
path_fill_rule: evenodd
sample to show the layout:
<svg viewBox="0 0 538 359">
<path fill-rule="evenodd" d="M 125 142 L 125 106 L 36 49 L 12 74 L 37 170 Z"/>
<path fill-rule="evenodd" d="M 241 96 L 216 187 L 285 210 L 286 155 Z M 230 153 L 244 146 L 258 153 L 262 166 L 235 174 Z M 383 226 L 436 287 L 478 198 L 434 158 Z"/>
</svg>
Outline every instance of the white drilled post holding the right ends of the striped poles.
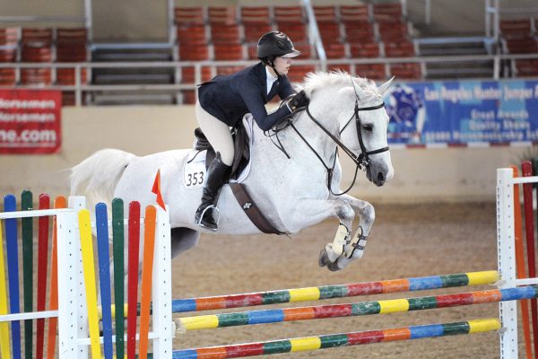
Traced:
<svg viewBox="0 0 538 359">
<path fill-rule="evenodd" d="M 511 169 L 497 170 L 497 258 L 500 289 L 516 286 L 516 256 L 514 239 L 514 184 Z M 517 359 L 516 301 L 499 302 L 500 358 Z"/>
</svg>

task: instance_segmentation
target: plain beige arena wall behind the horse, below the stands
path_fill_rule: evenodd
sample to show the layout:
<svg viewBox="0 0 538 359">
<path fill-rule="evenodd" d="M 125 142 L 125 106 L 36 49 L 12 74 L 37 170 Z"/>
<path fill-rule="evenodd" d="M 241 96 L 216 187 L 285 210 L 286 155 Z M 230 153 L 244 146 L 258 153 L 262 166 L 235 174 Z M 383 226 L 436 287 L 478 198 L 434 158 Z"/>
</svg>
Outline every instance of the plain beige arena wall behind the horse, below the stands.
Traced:
<svg viewBox="0 0 538 359">
<path fill-rule="evenodd" d="M 0 190 L 67 194 L 69 171 L 91 153 L 119 148 L 137 155 L 193 144 L 193 106 L 88 107 L 62 110 L 63 144 L 49 155 L 0 155 Z M 495 201 L 495 171 L 521 161 L 528 147 L 394 149 L 395 178 L 376 188 L 360 173 L 351 194 L 374 202 Z M 354 168 L 343 161 L 344 186 Z"/>
</svg>

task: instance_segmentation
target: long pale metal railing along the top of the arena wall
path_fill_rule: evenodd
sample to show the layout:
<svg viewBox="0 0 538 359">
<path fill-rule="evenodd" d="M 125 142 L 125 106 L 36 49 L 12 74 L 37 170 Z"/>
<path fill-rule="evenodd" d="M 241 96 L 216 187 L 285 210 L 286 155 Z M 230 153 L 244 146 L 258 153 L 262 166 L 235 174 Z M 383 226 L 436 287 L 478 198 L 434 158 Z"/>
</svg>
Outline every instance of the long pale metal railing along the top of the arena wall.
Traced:
<svg viewBox="0 0 538 359">
<path fill-rule="evenodd" d="M 391 76 L 390 66 L 393 64 L 416 63 L 420 64 L 422 71 L 428 64 L 443 64 L 455 62 L 485 62 L 490 61 L 493 64 L 493 69 L 490 76 L 481 76 L 481 79 L 499 80 L 501 77 L 509 77 L 507 74 L 502 74 L 503 64 L 513 66 L 516 60 L 520 59 L 538 59 L 538 54 L 497 54 L 497 55 L 472 55 L 472 56 L 454 56 L 454 57 L 383 57 L 383 58 L 364 58 L 364 59 L 328 59 L 321 60 L 296 60 L 295 66 L 315 66 L 316 70 L 326 71 L 334 66 L 350 66 L 350 72 L 353 75 L 361 75 L 357 73 L 356 67 L 360 65 L 383 64 L 385 66 L 386 78 Z M 22 89 L 56 89 L 67 92 L 74 92 L 75 105 L 82 105 L 82 94 L 91 92 L 113 92 L 113 91 L 143 91 L 143 92 L 177 92 L 195 90 L 197 83 L 202 83 L 202 68 L 210 67 L 212 75 L 216 74 L 216 68 L 219 66 L 249 66 L 256 64 L 256 61 L 200 61 L 200 62 L 113 62 L 113 63 L 0 63 L 1 68 L 14 68 L 16 78 L 21 78 L 21 70 L 26 68 L 49 68 L 56 72 L 58 68 L 74 68 L 74 84 L 61 85 L 23 85 L 17 83 L 15 88 Z M 166 84 L 92 84 L 91 71 L 99 68 L 170 68 L 175 72 L 174 82 Z M 185 67 L 194 67 L 195 81 L 193 83 L 185 83 L 181 78 L 181 69 Z M 82 83 L 82 71 L 89 72 L 89 83 Z M 293 68 L 291 68 L 293 71 Z M 424 74 L 426 75 L 427 74 Z M 53 75 L 52 78 L 55 78 Z M 1 88 L 13 88 L 13 86 L 0 86 Z"/>
</svg>

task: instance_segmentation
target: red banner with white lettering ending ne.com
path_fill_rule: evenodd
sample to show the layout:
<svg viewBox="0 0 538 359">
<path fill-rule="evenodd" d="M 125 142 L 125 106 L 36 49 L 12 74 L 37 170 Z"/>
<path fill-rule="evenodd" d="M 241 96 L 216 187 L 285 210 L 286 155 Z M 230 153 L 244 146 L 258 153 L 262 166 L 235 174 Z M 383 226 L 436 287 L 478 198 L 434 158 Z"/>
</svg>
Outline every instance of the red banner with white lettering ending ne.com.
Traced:
<svg viewBox="0 0 538 359">
<path fill-rule="evenodd" d="M 56 153 L 62 92 L 0 90 L 0 154 Z"/>
</svg>

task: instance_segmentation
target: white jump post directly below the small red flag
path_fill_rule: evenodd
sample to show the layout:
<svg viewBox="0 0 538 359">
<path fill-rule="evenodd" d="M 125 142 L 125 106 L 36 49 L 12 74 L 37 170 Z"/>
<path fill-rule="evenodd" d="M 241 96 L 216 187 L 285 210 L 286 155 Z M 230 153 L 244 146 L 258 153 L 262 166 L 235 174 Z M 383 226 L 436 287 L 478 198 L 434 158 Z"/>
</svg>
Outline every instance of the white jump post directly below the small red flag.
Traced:
<svg viewBox="0 0 538 359">
<path fill-rule="evenodd" d="M 168 208 L 167 208 L 168 210 Z M 157 207 L 153 261 L 153 357 L 170 358 L 172 353 L 172 265 L 169 212 Z"/>
</svg>

